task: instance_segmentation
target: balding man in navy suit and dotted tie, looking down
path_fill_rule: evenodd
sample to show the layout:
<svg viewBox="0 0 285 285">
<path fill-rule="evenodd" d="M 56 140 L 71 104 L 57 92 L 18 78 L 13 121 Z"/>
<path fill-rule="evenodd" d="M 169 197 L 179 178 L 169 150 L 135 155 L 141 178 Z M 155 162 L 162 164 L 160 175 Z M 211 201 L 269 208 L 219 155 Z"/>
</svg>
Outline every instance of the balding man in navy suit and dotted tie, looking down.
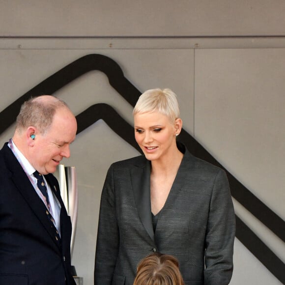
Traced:
<svg viewBox="0 0 285 285">
<path fill-rule="evenodd" d="M 0 150 L 0 285 L 75 285 L 71 221 L 51 173 L 76 137 L 67 105 L 49 95 L 25 102 Z"/>
</svg>

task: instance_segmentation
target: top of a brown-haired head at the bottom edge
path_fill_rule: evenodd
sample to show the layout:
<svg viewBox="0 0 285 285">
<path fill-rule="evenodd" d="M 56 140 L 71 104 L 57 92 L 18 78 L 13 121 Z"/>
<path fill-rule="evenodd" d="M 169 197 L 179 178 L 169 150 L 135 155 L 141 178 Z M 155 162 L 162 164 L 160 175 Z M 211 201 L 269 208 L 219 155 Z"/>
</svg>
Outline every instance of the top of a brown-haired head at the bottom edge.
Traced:
<svg viewBox="0 0 285 285">
<path fill-rule="evenodd" d="M 178 260 L 160 253 L 144 257 L 138 265 L 134 285 L 184 285 Z"/>
</svg>

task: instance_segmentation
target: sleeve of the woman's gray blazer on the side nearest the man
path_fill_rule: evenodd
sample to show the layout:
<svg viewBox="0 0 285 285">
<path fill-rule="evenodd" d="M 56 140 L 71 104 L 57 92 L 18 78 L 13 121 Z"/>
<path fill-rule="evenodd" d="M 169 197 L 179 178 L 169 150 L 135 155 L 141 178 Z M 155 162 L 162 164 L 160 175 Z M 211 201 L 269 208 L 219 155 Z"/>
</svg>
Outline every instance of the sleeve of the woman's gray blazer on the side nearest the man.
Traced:
<svg viewBox="0 0 285 285">
<path fill-rule="evenodd" d="M 114 167 L 107 172 L 100 202 L 94 285 L 111 285 L 119 246 L 114 194 Z"/>
</svg>

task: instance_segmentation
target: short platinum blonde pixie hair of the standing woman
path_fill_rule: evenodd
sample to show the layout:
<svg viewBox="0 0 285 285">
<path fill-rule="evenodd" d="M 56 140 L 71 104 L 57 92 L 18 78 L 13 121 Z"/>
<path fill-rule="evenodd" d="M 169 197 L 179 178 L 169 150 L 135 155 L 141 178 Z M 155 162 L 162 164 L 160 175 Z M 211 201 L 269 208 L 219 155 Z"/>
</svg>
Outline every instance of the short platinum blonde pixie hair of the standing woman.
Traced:
<svg viewBox="0 0 285 285">
<path fill-rule="evenodd" d="M 155 111 L 166 115 L 173 123 L 180 117 L 177 97 L 171 89 L 156 88 L 143 92 L 134 108 L 133 115 Z"/>
</svg>

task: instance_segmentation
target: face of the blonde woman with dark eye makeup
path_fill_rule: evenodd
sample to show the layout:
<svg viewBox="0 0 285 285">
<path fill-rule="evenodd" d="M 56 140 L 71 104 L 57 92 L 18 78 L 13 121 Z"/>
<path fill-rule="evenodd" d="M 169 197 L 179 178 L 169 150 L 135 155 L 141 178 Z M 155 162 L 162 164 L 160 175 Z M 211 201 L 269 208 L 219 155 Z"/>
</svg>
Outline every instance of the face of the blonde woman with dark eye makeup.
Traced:
<svg viewBox="0 0 285 285">
<path fill-rule="evenodd" d="M 166 115 L 158 112 L 138 113 L 134 115 L 134 125 L 135 139 L 146 159 L 153 161 L 172 155 L 178 133 L 176 121 L 171 123 Z"/>
</svg>

